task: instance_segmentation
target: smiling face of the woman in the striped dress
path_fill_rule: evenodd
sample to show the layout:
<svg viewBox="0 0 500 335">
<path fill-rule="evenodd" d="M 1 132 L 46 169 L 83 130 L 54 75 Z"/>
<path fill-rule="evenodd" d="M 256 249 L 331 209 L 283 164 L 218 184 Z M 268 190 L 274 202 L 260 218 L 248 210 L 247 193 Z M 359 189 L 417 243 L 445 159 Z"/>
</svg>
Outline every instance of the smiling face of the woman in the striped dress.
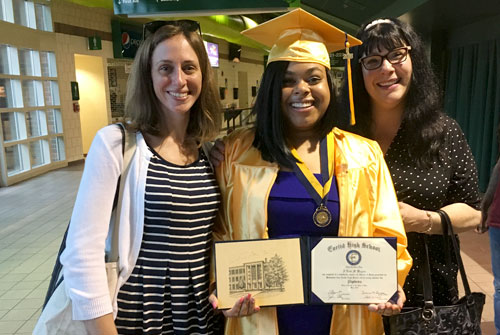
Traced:
<svg viewBox="0 0 500 335">
<path fill-rule="evenodd" d="M 165 116 L 188 116 L 200 96 L 202 73 L 198 56 L 184 35 L 157 45 L 151 57 L 151 78 Z"/>
</svg>

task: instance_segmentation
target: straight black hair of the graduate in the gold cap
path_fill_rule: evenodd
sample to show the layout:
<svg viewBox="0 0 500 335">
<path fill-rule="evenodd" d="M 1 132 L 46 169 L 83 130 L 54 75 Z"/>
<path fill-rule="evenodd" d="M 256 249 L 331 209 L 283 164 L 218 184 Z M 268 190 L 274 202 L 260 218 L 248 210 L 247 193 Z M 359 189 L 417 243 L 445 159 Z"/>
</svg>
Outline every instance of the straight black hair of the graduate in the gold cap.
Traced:
<svg viewBox="0 0 500 335">
<path fill-rule="evenodd" d="M 288 61 L 269 63 L 262 75 L 252 112 L 256 114 L 253 146 L 259 149 L 265 160 L 292 168 L 290 159 L 295 160 L 295 158 L 287 145 L 285 120 L 281 112 L 281 89 L 289 63 Z M 318 138 L 326 136 L 335 126 L 337 119 L 335 91 L 329 69 L 326 69 L 326 79 L 330 90 L 330 104 L 321 120 L 317 122 Z"/>
</svg>

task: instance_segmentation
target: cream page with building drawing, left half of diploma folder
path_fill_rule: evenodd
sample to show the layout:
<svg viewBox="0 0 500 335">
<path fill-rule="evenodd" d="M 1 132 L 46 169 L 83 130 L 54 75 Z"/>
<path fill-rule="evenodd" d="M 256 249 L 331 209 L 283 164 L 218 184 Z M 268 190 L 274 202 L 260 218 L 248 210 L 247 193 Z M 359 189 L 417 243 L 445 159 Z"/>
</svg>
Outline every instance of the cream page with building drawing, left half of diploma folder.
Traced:
<svg viewBox="0 0 500 335">
<path fill-rule="evenodd" d="M 215 243 L 219 308 L 252 294 L 259 306 L 303 304 L 300 238 Z"/>
</svg>

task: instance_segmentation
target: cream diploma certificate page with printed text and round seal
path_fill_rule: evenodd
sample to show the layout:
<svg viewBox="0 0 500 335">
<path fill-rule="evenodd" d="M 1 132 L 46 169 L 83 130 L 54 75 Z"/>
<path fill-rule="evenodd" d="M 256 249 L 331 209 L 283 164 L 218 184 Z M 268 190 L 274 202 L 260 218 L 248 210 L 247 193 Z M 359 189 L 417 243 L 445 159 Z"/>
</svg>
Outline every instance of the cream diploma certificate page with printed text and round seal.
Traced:
<svg viewBox="0 0 500 335">
<path fill-rule="evenodd" d="M 396 238 L 320 238 L 311 248 L 312 300 L 387 302 L 397 292 Z"/>
</svg>

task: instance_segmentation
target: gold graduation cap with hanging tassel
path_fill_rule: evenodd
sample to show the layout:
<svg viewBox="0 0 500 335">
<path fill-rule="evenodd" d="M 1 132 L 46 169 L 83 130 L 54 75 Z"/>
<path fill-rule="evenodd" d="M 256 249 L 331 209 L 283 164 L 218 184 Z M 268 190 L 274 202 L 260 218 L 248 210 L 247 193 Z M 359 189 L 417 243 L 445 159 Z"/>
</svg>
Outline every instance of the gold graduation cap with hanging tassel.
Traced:
<svg viewBox="0 0 500 335">
<path fill-rule="evenodd" d="M 256 27 L 241 32 L 271 48 L 267 63 L 290 61 L 318 63 L 330 68 L 330 53 L 345 49 L 351 124 L 354 124 L 354 103 L 352 100 L 351 63 L 349 47 L 360 45 L 361 41 L 332 26 L 301 8 L 294 9 Z"/>
</svg>

